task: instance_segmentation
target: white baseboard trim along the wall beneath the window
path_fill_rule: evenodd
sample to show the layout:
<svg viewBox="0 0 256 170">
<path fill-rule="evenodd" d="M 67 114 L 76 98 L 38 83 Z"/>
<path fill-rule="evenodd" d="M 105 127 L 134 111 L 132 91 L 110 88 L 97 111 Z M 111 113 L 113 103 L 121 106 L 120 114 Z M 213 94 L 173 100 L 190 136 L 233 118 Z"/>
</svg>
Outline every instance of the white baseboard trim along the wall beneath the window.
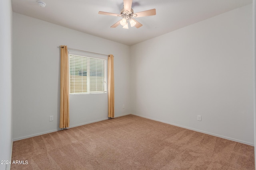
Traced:
<svg viewBox="0 0 256 170">
<path fill-rule="evenodd" d="M 125 115 L 130 115 L 130 114 L 131 113 L 124 114 L 124 115 L 118 115 L 118 116 L 115 116 L 115 117 L 121 117 L 121 116 L 125 116 Z M 107 120 L 107 119 L 108 118 L 98 119 L 96 121 L 90 121 L 90 122 L 86 122 L 86 123 L 82 123 L 82 124 L 78 124 L 78 125 L 72 125 L 72 126 L 68 127 L 67 129 L 72 128 L 72 127 L 78 127 L 78 126 L 82 126 L 82 125 L 87 125 L 87 124 L 90 124 L 90 123 L 95 123 L 95 122 L 103 121 L 103 120 Z M 47 133 L 52 133 L 52 132 L 56 132 L 56 131 L 60 131 L 60 130 L 62 130 L 62 129 L 54 129 L 54 130 L 51 130 L 51 131 L 46 131 L 46 132 L 42 132 L 42 133 L 36 133 L 36 134 L 33 134 L 33 135 L 28 135 L 28 136 L 24 136 L 24 137 L 13 139 L 13 141 L 19 141 L 19 140 L 22 140 L 22 139 L 26 139 L 26 138 L 30 138 L 30 137 L 35 137 L 35 136 L 39 136 L 39 135 L 44 135 L 44 134 L 47 134 Z"/>
</svg>

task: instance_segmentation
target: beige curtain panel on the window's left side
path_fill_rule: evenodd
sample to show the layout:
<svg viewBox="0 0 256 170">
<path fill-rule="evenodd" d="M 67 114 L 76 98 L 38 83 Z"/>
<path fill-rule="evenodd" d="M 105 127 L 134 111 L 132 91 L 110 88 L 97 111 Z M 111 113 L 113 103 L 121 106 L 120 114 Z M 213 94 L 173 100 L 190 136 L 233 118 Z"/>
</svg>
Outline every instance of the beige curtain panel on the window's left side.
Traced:
<svg viewBox="0 0 256 170">
<path fill-rule="evenodd" d="M 60 47 L 60 128 L 66 128 L 69 127 L 68 47 Z"/>
</svg>

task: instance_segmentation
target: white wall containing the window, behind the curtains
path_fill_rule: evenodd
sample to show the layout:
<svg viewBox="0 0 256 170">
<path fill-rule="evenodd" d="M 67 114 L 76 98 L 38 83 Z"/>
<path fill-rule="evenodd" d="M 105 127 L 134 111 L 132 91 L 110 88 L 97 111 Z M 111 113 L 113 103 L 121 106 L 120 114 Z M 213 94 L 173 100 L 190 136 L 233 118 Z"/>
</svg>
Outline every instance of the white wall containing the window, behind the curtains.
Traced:
<svg viewBox="0 0 256 170">
<path fill-rule="evenodd" d="M 115 116 L 130 113 L 129 46 L 17 13 L 13 13 L 13 45 L 14 140 L 59 129 L 59 45 L 113 54 Z M 49 121 L 50 115 L 54 121 Z M 70 127 L 107 117 L 107 94 L 70 96 Z"/>
</svg>

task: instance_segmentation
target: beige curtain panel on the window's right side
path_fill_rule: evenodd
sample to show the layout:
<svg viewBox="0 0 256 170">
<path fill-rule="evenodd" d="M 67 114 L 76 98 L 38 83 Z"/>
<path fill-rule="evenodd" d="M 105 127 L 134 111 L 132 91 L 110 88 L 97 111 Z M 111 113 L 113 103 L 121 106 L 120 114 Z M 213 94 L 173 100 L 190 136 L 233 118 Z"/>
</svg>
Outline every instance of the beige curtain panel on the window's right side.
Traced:
<svg viewBox="0 0 256 170">
<path fill-rule="evenodd" d="M 108 56 L 108 117 L 114 117 L 114 56 Z"/>
</svg>

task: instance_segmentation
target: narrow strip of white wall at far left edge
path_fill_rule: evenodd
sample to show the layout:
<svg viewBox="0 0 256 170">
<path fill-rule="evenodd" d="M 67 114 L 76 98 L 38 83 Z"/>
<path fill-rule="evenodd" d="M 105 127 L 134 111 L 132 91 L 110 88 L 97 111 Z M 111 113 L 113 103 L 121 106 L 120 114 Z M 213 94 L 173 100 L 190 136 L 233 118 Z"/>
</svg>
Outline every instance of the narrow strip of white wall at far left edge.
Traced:
<svg viewBox="0 0 256 170">
<path fill-rule="evenodd" d="M 0 160 L 12 156 L 12 4 L 0 5 Z M 10 164 L 0 164 L 0 170 Z"/>
</svg>

